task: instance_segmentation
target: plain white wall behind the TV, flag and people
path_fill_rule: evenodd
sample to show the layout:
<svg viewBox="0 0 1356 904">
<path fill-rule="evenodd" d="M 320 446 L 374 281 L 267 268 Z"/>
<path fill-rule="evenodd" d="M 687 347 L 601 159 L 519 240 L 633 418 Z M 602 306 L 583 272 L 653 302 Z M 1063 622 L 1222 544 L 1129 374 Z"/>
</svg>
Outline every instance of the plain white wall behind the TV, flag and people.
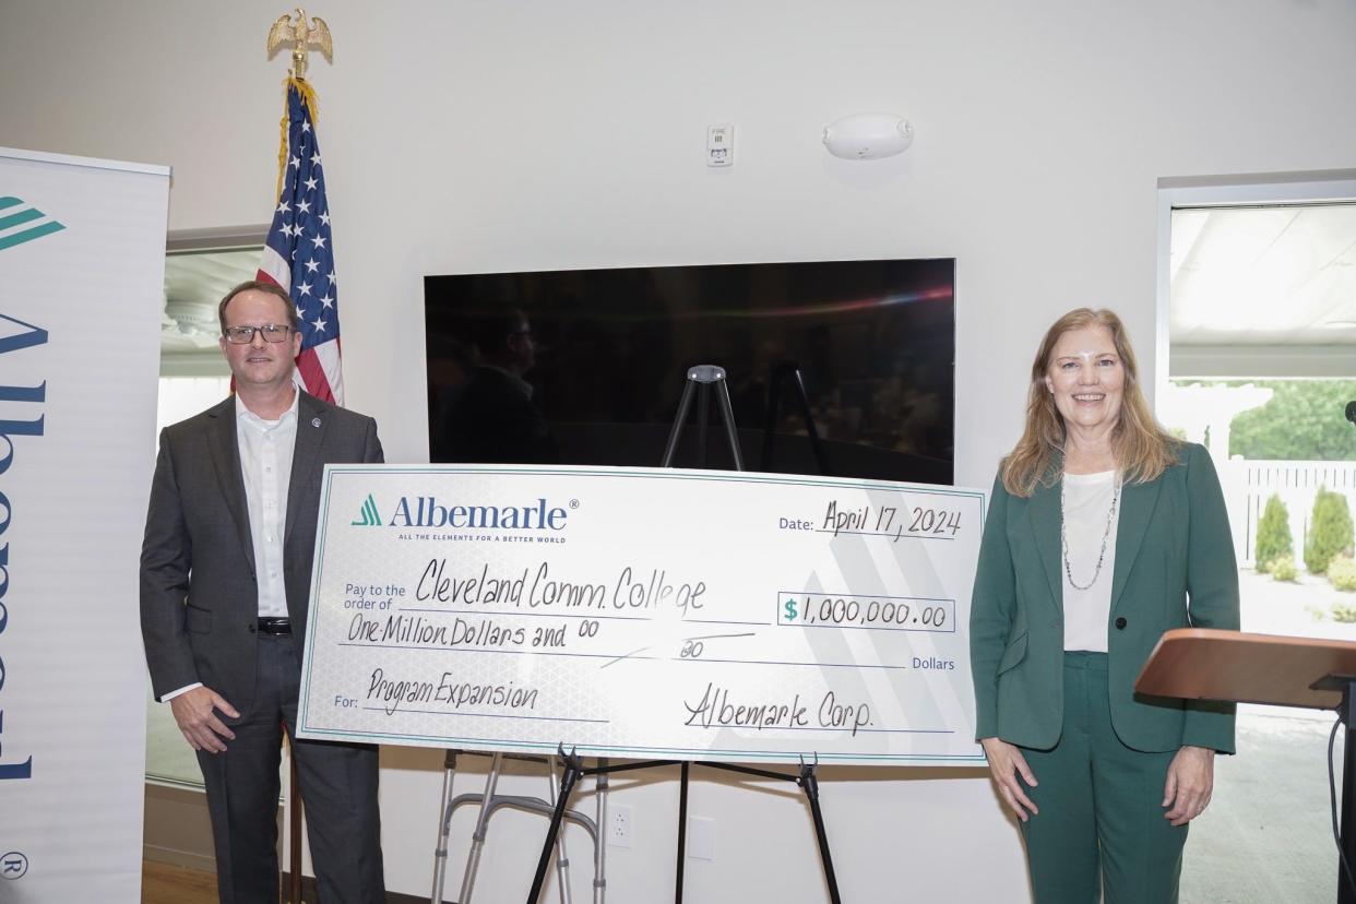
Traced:
<svg viewBox="0 0 1356 904">
<path fill-rule="evenodd" d="M 174 229 L 263 222 L 286 65 L 263 43 L 281 11 L 0 0 L 0 144 L 172 164 Z M 1153 373 L 1159 178 L 1356 163 L 1349 0 L 330 0 L 311 12 L 336 42 L 335 64 L 313 58 L 311 75 L 346 385 L 392 461 L 426 458 L 424 274 L 955 256 L 956 477 L 987 485 L 1059 313 L 1120 310 Z M 820 127 L 862 110 L 911 119 L 904 157 L 829 157 Z M 735 125 L 730 171 L 702 163 L 713 122 Z M 439 760 L 386 756 L 393 890 L 426 890 Z M 846 900 L 1022 900 L 1016 831 L 984 781 L 834 771 L 824 794 Z M 610 851 L 613 900 L 664 900 L 673 782 L 617 800 L 637 808 L 639 835 Z M 689 900 L 822 900 L 795 798 L 702 781 L 693 812 L 717 820 L 717 859 L 693 862 Z M 526 888 L 540 829 L 515 820 L 494 827 L 481 900 Z M 991 866 L 974 869 L 976 855 Z M 584 878 L 582 844 L 574 859 Z"/>
</svg>

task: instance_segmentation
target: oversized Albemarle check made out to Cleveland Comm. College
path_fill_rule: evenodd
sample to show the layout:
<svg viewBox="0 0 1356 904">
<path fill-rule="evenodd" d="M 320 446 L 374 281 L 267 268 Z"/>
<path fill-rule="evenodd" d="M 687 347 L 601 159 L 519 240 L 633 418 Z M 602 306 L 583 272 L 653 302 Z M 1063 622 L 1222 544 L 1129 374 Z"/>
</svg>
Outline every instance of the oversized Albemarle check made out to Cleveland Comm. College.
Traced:
<svg viewBox="0 0 1356 904">
<path fill-rule="evenodd" d="M 325 469 L 302 737 L 974 766 L 986 493 L 674 469 Z"/>
</svg>

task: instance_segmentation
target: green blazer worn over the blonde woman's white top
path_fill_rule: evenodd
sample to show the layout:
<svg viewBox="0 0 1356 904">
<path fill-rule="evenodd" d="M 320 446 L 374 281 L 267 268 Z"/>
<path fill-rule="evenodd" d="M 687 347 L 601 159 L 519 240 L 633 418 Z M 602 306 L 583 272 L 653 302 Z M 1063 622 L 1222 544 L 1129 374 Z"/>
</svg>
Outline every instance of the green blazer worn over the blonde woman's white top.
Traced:
<svg viewBox="0 0 1356 904">
<path fill-rule="evenodd" d="M 1135 678 L 1163 632 L 1238 630 L 1238 567 L 1210 453 L 1177 447 L 1157 480 L 1125 484 L 1106 625 L 1112 725 L 1140 751 L 1234 751 L 1233 705 L 1143 697 Z M 1029 499 L 994 481 L 975 573 L 970 661 L 978 737 L 1048 749 L 1064 707 L 1060 488 Z M 1100 580 L 1106 580 L 1104 573 Z"/>
</svg>

